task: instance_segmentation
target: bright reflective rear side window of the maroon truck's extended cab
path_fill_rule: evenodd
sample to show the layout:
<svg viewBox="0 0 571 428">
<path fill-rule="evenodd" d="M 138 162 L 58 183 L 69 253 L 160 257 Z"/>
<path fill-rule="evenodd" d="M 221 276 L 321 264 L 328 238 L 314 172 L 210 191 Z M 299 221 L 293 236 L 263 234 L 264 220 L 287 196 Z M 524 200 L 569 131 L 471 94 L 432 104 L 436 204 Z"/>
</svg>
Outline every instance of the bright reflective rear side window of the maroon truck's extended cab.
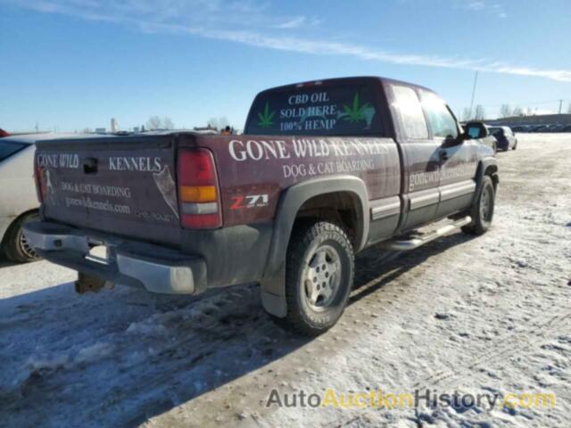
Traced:
<svg viewBox="0 0 571 428">
<path fill-rule="evenodd" d="M 425 115 L 414 89 L 408 86 L 393 86 L 393 95 L 406 136 L 412 139 L 428 138 Z"/>
</svg>

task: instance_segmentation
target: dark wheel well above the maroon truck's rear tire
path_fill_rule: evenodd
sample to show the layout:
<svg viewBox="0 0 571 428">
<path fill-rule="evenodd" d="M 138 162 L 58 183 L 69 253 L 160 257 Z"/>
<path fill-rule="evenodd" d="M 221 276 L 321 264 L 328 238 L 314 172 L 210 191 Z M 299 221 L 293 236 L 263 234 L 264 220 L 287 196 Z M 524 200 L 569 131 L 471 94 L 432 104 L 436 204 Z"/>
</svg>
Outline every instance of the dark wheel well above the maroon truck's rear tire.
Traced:
<svg viewBox="0 0 571 428">
<path fill-rule="evenodd" d="M 303 218 L 319 218 L 336 223 L 349 234 L 353 246 L 360 236 L 359 198 L 351 192 L 332 192 L 319 194 L 303 202 L 297 211 L 295 221 Z"/>
</svg>

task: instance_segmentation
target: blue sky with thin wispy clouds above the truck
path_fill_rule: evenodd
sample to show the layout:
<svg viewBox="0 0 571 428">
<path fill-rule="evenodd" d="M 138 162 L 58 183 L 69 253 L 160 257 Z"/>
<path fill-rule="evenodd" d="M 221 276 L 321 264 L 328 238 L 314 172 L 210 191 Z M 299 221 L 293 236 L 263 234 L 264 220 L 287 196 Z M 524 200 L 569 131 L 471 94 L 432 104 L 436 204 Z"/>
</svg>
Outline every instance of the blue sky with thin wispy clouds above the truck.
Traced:
<svg viewBox="0 0 571 428">
<path fill-rule="evenodd" d="M 242 128 L 269 86 L 379 75 L 476 103 L 571 103 L 569 0 L 0 0 L 0 128 L 169 116 Z"/>
</svg>

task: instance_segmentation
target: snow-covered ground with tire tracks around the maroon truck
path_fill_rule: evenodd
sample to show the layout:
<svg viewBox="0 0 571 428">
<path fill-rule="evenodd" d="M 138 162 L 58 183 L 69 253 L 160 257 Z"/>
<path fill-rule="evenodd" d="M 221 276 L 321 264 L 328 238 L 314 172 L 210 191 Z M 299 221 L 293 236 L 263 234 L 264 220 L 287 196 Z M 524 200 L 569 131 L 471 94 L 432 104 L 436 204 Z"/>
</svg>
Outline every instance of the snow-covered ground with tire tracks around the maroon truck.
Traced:
<svg viewBox="0 0 571 428">
<path fill-rule="evenodd" d="M 571 136 L 498 154 L 492 230 L 357 260 L 351 303 L 314 339 L 273 325 L 258 291 L 200 298 L 0 259 L 3 426 L 568 426 Z M 553 392 L 550 409 L 265 407 L 270 391 Z M 283 397 L 283 395 L 282 395 Z"/>
</svg>

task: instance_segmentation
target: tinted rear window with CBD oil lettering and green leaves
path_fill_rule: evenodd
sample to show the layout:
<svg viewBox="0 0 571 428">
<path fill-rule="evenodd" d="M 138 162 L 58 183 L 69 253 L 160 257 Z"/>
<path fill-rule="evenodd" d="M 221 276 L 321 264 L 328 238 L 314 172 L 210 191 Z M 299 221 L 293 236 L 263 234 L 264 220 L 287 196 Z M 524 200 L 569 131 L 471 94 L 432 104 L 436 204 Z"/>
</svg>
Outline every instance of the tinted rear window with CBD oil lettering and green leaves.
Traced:
<svg viewBox="0 0 571 428">
<path fill-rule="evenodd" d="M 246 134 L 360 136 L 382 134 L 372 85 L 310 86 L 258 95 Z"/>
</svg>

